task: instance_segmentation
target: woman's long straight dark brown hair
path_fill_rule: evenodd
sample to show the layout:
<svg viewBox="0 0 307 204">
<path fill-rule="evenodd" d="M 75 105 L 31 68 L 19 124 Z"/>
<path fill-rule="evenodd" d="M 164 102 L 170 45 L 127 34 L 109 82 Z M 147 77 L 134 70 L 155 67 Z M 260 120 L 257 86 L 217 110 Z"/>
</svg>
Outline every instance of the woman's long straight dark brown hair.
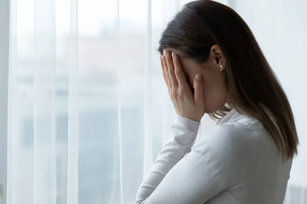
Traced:
<svg viewBox="0 0 307 204">
<path fill-rule="evenodd" d="M 231 107 L 258 119 L 282 158 L 292 159 L 298 137 L 288 98 L 253 33 L 234 10 L 208 0 L 186 4 L 168 23 L 158 50 L 162 53 L 172 47 L 181 57 L 203 63 L 215 44 L 226 58 L 225 84 Z M 224 106 L 213 117 L 224 117 L 229 111 Z"/>
</svg>

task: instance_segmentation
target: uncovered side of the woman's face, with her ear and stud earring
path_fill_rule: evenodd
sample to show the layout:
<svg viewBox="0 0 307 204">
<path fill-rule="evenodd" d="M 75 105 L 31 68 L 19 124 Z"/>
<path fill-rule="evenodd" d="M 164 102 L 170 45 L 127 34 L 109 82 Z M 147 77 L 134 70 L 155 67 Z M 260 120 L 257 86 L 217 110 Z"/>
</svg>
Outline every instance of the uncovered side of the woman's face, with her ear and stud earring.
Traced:
<svg viewBox="0 0 307 204">
<path fill-rule="evenodd" d="M 175 49 L 167 49 L 170 52 L 178 54 Z M 223 73 L 225 69 L 225 59 L 223 56 L 219 56 L 218 52 L 214 53 L 214 50 L 212 49 L 208 60 L 202 64 L 199 64 L 192 59 L 180 59 L 183 72 L 186 75 L 187 82 L 192 91 L 195 75 L 198 73 L 202 74 L 205 95 L 205 112 L 208 114 L 220 110 L 228 101 Z M 178 55 L 180 56 L 180 54 Z M 221 64 L 223 65 L 223 68 L 220 67 Z"/>
</svg>

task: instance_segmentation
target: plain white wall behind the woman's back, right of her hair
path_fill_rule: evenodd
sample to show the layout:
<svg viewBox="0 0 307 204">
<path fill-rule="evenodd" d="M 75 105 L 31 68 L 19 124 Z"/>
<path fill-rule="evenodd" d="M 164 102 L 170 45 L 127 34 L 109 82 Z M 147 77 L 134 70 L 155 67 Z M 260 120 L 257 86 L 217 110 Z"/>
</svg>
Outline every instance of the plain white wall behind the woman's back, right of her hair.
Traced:
<svg viewBox="0 0 307 204">
<path fill-rule="evenodd" d="M 307 1 L 229 0 L 253 31 L 288 94 L 300 138 L 290 184 L 307 186 Z"/>
</svg>

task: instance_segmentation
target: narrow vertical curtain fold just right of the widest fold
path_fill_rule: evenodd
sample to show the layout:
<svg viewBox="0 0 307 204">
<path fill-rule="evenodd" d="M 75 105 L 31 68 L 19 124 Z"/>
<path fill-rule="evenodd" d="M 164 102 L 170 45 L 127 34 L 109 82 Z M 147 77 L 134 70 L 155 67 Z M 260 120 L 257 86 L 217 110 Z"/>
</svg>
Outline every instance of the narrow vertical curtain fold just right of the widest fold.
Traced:
<svg viewBox="0 0 307 204">
<path fill-rule="evenodd" d="M 78 204 L 79 171 L 79 42 L 78 0 L 71 0 L 68 89 L 67 203 Z"/>
</svg>

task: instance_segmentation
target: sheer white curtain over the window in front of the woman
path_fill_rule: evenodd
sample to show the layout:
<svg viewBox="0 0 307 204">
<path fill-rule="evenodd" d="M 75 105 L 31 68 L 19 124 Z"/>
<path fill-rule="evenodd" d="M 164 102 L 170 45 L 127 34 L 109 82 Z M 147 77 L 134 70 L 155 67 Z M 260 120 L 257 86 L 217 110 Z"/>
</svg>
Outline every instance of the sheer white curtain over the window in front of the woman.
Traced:
<svg viewBox="0 0 307 204">
<path fill-rule="evenodd" d="M 1 0 L 0 203 L 134 202 L 174 118 L 158 40 L 187 2 Z"/>
</svg>

